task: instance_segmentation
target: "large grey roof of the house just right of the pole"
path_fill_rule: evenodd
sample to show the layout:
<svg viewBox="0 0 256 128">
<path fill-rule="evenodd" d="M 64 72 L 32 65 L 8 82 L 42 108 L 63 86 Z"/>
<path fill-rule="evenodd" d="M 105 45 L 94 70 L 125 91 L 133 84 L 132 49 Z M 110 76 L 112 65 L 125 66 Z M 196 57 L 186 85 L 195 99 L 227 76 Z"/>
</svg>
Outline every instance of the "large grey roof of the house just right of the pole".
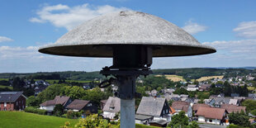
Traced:
<svg viewBox="0 0 256 128">
<path fill-rule="evenodd" d="M 165 98 L 161 97 L 142 97 L 136 114 L 160 116 L 165 101 Z"/>
</svg>

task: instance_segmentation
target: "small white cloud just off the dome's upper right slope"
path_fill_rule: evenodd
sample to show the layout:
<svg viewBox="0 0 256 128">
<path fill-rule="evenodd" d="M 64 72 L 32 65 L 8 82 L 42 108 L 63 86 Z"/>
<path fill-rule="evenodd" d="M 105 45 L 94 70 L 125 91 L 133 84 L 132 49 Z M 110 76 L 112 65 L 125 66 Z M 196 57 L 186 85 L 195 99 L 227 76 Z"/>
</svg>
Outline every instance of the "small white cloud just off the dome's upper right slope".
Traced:
<svg viewBox="0 0 256 128">
<path fill-rule="evenodd" d="M 185 23 L 185 26 L 182 27 L 184 31 L 187 31 L 188 33 L 194 35 L 201 31 L 206 31 L 207 26 L 201 26 L 197 24 L 197 22 L 192 22 L 192 20 L 189 20 Z"/>
</svg>

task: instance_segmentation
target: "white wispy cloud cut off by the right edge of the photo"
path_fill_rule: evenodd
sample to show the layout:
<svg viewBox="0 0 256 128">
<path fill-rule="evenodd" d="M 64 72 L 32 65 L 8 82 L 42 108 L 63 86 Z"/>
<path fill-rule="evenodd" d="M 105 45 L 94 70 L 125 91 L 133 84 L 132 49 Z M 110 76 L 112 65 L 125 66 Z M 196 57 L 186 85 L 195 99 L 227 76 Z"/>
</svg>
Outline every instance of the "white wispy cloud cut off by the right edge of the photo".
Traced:
<svg viewBox="0 0 256 128">
<path fill-rule="evenodd" d="M 256 21 L 243 21 L 233 31 L 238 32 L 238 36 L 245 38 L 256 37 Z"/>
</svg>

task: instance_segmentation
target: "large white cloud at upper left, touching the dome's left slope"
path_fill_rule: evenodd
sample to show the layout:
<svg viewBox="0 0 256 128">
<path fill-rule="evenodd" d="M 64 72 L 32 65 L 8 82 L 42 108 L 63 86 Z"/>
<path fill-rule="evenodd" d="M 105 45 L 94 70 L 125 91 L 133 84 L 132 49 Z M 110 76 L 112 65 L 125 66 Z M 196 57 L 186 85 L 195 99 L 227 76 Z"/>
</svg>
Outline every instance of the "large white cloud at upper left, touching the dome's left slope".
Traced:
<svg viewBox="0 0 256 128">
<path fill-rule="evenodd" d="M 71 30 L 84 21 L 110 12 L 128 10 L 125 7 L 111 7 L 109 5 L 92 7 L 89 4 L 69 7 L 67 5 L 46 5 L 36 12 L 37 17 L 31 17 L 31 22 L 45 23 L 50 22 L 56 27 L 64 27 Z"/>
</svg>

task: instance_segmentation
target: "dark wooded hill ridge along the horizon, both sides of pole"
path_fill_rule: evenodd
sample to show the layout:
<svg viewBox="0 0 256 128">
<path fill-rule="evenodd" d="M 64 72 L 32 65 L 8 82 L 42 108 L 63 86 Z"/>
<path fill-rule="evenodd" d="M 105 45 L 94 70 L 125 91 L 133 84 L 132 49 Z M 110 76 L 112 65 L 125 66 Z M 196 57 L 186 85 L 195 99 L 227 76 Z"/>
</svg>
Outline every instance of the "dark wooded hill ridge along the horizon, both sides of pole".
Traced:
<svg viewBox="0 0 256 128">
<path fill-rule="evenodd" d="M 224 75 L 225 78 L 243 76 L 256 73 L 256 69 L 215 69 L 215 68 L 188 68 L 188 69 L 153 69 L 154 74 L 176 74 L 186 80 L 197 79 L 205 76 Z M 0 73 L 0 78 L 34 78 L 34 79 L 70 79 L 70 80 L 93 80 L 105 78 L 98 71 L 65 71 L 65 72 L 39 72 L 39 73 Z"/>
</svg>

